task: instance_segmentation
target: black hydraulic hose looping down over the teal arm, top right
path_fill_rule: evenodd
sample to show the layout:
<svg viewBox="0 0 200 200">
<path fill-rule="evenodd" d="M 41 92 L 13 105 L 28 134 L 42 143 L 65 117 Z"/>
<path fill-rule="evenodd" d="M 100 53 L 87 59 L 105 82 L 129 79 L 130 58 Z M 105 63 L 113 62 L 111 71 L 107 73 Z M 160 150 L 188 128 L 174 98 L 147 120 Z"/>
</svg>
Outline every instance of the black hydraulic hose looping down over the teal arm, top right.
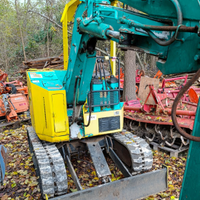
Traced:
<svg viewBox="0 0 200 200">
<path fill-rule="evenodd" d="M 178 0 L 170 0 L 170 1 L 174 4 L 174 7 L 176 8 L 176 12 L 177 12 L 177 26 L 180 27 L 182 25 L 182 22 L 183 22 L 183 15 L 182 15 L 182 11 L 181 11 L 181 6 L 180 6 Z M 157 38 L 151 31 L 147 31 L 147 32 L 148 32 L 149 36 L 157 44 L 159 44 L 161 46 L 168 46 L 168 45 L 172 44 L 176 40 L 176 37 L 178 36 L 178 33 L 174 33 L 173 36 L 171 37 L 171 39 L 169 39 L 167 41 L 163 41 L 163 40 Z"/>
</svg>

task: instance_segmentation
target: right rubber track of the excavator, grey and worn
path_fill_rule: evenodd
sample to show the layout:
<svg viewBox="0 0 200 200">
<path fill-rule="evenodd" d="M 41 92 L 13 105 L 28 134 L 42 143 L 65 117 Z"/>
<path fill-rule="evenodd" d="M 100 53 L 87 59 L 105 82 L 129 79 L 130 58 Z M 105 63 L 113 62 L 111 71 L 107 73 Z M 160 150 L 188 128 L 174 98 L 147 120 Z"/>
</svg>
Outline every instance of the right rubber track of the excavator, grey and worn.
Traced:
<svg viewBox="0 0 200 200">
<path fill-rule="evenodd" d="M 115 133 L 113 137 L 128 149 L 132 160 L 132 172 L 139 173 L 152 168 L 153 154 L 144 139 L 130 132 L 126 132 L 124 135 Z"/>
</svg>

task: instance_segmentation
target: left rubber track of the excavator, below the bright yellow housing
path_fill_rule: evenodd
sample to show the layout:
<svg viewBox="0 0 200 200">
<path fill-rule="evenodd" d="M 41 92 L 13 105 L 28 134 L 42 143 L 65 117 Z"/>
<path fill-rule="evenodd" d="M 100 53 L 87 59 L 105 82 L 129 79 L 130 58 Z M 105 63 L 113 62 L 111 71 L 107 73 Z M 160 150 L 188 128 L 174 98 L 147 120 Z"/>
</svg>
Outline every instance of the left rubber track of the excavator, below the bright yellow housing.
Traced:
<svg viewBox="0 0 200 200">
<path fill-rule="evenodd" d="M 44 199 L 67 193 L 67 174 L 63 158 L 53 143 L 42 142 L 33 127 L 27 128 L 39 185 Z"/>
</svg>

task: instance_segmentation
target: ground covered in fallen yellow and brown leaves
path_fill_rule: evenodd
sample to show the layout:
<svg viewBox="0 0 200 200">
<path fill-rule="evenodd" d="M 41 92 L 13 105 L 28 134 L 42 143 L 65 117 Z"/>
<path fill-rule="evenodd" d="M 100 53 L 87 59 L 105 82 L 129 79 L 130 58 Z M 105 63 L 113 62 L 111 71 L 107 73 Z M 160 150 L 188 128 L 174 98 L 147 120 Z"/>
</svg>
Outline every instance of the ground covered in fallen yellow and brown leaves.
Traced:
<svg viewBox="0 0 200 200">
<path fill-rule="evenodd" d="M 0 142 L 8 149 L 7 172 L 4 180 L 4 186 L 0 190 L 0 199 L 41 199 L 40 189 L 37 182 L 36 173 L 33 166 L 32 157 L 29 152 L 26 126 L 22 125 L 18 129 L 10 129 L 0 133 Z M 172 157 L 163 152 L 154 151 L 153 169 L 160 169 L 165 164 L 169 167 L 167 191 L 150 196 L 145 200 L 154 199 L 176 199 L 179 197 L 183 173 L 186 162 L 186 155 L 179 158 Z M 114 165 L 109 157 L 106 157 L 112 176 L 112 181 L 123 178 L 122 173 Z M 94 166 L 91 164 L 90 156 L 86 153 L 84 156 L 72 158 L 75 171 L 80 179 L 84 189 L 101 184 L 101 180 L 96 176 Z M 72 177 L 68 174 L 68 192 L 75 192 L 76 187 Z"/>
</svg>

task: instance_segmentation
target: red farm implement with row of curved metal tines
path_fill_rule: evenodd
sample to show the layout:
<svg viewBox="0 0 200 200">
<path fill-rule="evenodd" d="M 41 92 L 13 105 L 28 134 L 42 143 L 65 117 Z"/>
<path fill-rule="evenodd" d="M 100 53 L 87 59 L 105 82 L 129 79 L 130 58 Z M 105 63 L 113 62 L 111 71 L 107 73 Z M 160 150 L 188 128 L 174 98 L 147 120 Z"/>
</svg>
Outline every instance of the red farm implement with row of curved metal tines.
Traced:
<svg viewBox="0 0 200 200">
<path fill-rule="evenodd" d="M 153 97 L 154 103 L 146 104 L 149 97 Z M 126 126 L 140 137 L 149 142 L 160 145 L 182 148 L 188 145 L 173 127 L 171 119 L 174 98 L 165 93 L 157 93 L 152 85 L 149 85 L 149 94 L 144 103 L 140 100 L 125 102 L 124 118 Z M 176 111 L 178 123 L 187 132 L 193 129 L 197 104 L 182 100 Z"/>
</svg>

